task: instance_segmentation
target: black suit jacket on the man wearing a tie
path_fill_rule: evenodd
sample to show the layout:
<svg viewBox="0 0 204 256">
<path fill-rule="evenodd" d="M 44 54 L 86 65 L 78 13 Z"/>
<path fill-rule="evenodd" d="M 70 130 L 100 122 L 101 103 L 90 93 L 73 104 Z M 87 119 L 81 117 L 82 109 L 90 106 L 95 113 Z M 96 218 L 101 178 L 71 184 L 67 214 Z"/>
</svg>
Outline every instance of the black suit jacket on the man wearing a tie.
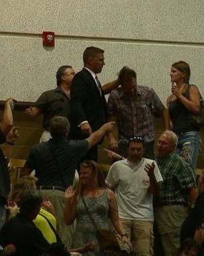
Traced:
<svg viewBox="0 0 204 256">
<path fill-rule="evenodd" d="M 107 103 L 102 92 L 98 90 L 96 82 L 87 69 L 76 73 L 71 84 L 71 130 L 74 139 L 87 137 L 80 131 L 78 125 L 88 121 L 92 131 L 99 129 L 106 121 Z"/>
</svg>

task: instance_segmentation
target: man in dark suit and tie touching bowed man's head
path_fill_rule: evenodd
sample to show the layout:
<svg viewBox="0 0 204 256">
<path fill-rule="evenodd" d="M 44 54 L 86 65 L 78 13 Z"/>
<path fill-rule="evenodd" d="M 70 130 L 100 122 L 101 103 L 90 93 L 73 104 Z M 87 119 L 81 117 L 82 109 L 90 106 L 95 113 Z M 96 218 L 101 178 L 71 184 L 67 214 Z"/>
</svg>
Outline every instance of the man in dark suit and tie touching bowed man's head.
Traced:
<svg viewBox="0 0 204 256">
<path fill-rule="evenodd" d="M 97 74 L 102 71 L 104 50 L 87 47 L 83 53 L 84 68 L 78 72 L 71 84 L 72 139 L 84 139 L 106 121 L 107 103 L 104 94 L 118 86 L 118 80 L 103 87 Z M 97 161 L 97 145 L 85 157 Z"/>
</svg>

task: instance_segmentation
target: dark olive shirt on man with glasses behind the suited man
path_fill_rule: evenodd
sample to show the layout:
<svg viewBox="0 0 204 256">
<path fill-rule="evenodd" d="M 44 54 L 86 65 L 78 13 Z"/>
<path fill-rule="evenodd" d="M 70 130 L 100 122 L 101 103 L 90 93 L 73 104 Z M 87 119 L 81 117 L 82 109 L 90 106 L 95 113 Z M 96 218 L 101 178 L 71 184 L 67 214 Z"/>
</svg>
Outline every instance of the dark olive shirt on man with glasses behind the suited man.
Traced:
<svg viewBox="0 0 204 256">
<path fill-rule="evenodd" d="M 57 87 L 54 90 L 45 91 L 33 103 L 33 107 L 38 107 L 43 113 L 43 127 L 48 128 L 49 120 L 56 115 L 66 117 L 70 121 L 70 99 Z"/>
</svg>

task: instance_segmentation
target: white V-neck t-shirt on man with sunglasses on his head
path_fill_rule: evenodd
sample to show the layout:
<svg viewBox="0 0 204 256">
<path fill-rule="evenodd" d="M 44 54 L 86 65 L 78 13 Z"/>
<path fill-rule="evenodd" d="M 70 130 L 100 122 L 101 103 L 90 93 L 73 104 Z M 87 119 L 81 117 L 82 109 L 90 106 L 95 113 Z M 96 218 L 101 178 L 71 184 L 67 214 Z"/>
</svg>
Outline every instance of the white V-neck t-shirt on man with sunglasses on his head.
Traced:
<svg viewBox="0 0 204 256">
<path fill-rule="evenodd" d="M 153 221 L 152 193 L 148 190 L 150 178 L 144 169 L 152 162 L 156 181 L 163 181 L 157 163 L 151 159 L 143 158 L 137 165 L 124 159 L 110 167 L 106 183 L 115 191 L 121 218 Z"/>
</svg>

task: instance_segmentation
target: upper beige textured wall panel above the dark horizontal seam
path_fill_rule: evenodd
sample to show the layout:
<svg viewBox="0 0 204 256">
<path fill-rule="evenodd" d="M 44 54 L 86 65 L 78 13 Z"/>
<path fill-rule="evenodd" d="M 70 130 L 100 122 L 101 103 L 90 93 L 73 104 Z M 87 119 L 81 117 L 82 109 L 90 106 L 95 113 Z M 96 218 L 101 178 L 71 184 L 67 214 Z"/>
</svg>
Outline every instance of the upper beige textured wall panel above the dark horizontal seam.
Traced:
<svg viewBox="0 0 204 256">
<path fill-rule="evenodd" d="M 203 41 L 203 0 L 1 0 L 1 31 Z"/>
</svg>

